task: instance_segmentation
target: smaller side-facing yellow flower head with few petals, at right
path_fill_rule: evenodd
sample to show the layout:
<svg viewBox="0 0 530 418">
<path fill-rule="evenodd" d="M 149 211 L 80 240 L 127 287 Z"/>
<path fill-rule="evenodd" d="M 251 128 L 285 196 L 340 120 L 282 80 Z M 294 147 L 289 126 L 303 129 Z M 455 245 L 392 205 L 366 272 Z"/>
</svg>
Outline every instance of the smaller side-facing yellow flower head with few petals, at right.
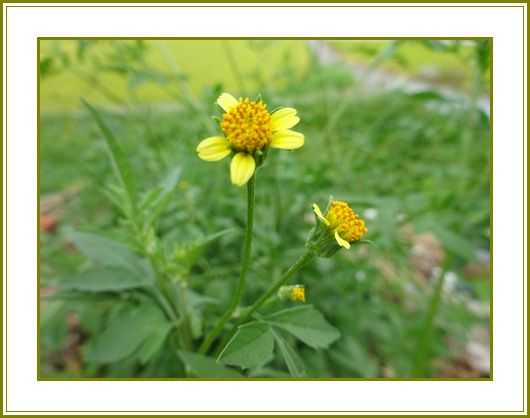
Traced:
<svg viewBox="0 0 530 418">
<path fill-rule="evenodd" d="M 335 241 L 341 247 L 350 248 L 351 242 L 359 241 L 368 232 L 364 221 L 346 202 L 332 200 L 326 216 L 322 215 L 316 203 L 313 204 L 313 211 L 333 233 Z"/>
</svg>

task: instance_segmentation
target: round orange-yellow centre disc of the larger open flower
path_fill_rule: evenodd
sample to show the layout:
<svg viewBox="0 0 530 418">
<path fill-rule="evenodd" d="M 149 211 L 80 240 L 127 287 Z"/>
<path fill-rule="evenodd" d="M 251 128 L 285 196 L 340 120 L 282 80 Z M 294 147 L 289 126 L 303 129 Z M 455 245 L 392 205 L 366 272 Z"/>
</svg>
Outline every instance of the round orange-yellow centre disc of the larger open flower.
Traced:
<svg viewBox="0 0 530 418">
<path fill-rule="evenodd" d="M 252 154 L 271 142 L 271 114 L 261 100 L 240 99 L 224 114 L 221 129 L 236 151 Z"/>
</svg>

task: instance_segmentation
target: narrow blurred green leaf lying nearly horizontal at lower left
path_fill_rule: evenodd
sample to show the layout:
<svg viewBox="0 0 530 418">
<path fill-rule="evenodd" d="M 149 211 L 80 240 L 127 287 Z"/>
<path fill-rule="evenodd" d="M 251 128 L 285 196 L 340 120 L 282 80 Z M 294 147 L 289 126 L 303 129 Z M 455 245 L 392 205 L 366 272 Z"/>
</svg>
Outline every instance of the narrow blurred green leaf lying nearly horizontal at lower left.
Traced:
<svg viewBox="0 0 530 418">
<path fill-rule="evenodd" d="M 79 273 L 63 282 L 63 288 L 83 292 L 116 292 L 148 286 L 145 275 L 121 267 L 101 267 Z"/>
</svg>

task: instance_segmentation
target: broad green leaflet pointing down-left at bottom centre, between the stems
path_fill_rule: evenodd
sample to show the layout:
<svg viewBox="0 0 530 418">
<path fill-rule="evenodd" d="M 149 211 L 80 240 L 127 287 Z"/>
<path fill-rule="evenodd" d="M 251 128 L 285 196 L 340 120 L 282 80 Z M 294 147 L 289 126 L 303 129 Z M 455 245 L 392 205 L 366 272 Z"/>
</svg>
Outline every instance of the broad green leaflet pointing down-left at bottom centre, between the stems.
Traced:
<svg viewBox="0 0 530 418">
<path fill-rule="evenodd" d="M 225 364 L 244 369 L 259 367 L 273 358 L 274 337 L 267 324 L 253 322 L 239 327 L 219 355 Z"/>
</svg>

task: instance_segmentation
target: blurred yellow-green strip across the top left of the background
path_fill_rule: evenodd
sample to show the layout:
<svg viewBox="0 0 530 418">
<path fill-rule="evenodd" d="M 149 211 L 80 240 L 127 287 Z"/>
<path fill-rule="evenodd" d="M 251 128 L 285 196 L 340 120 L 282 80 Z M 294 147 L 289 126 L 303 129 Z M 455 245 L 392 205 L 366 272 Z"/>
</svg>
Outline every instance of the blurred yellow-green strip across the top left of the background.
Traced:
<svg viewBox="0 0 530 418">
<path fill-rule="evenodd" d="M 77 41 L 41 42 L 41 56 L 51 63 L 49 76 L 41 87 L 43 111 L 79 109 L 79 97 L 96 104 L 174 102 L 179 92 L 178 88 L 171 86 L 173 78 L 186 81 L 193 94 L 200 94 L 206 86 L 215 84 L 235 91 L 238 76 L 233 73 L 227 53 L 234 57 L 242 73 L 259 72 L 259 81 L 254 78 L 245 80 L 245 87 L 250 90 L 255 90 L 258 84 L 281 84 L 276 76 L 286 54 L 297 74 L 307 69 L 309 60 L 303 41 L 294 40 L 277 43 L 274 47 L 266 40 L 153 40 L 143 43 L 145 49 L 127 48 L 131 44 L 134 43 L 120 45 L 115 41 L 98 41 L 86 43 L 80 49 Z M 138 59 L 139 51 L 145 51 L 141 59 Z M 90 62 L 85 62 L 85 57 Z M 78 61 L 82 65 L 75 65 Z M 148 64 L 143 65 L 141 61 Z M 98 66 L 98 62 L 101 65 L 96 77 L 93 67 Z M 138 71 L 134 77 L 124 77 L 131 62 Z M 263 62 L 267 65 L 261 65 Z M 60 71 L 65 65 L 69 71 Z M 95 78 L 98 84 L 111 87 L 104 91 L 95 89 Z M 168 85 L 171 89 L 167 88 Z"/>
</svg>

